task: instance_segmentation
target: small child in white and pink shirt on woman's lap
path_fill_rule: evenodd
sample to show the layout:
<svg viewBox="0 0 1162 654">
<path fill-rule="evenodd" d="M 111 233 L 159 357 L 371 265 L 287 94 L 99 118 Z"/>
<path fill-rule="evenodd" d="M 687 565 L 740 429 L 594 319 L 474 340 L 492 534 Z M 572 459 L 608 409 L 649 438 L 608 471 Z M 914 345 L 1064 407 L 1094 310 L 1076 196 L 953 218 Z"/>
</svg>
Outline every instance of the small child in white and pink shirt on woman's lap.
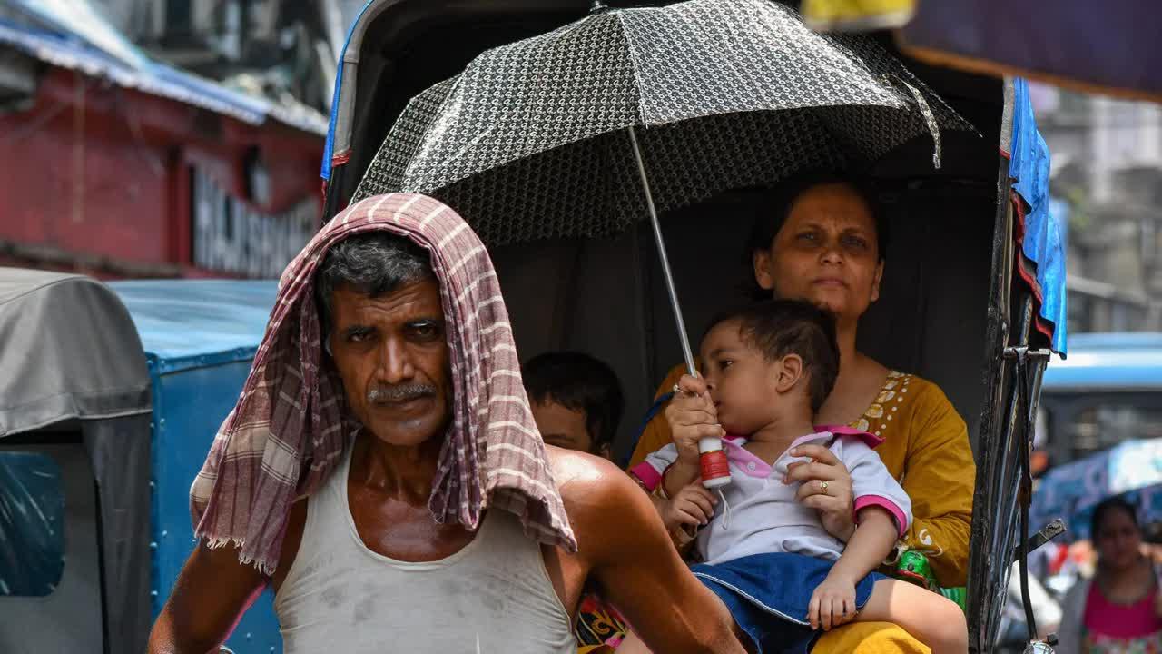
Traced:
<svg viewBox="0 0 1162 654">
<path fill-rule="evenodd" d="M 675 443 L 632 472 L 658 489 L 672 533 L 702 527 L 694 573 L 726 605 L 740 639 L 754 652 L 798 653 L 820 628 L 884 621 L 935 654 L 967 652 L 955 603 L 874 571 L 911 520 L 908 495 L 871 449 L 880 440 L 812 426 L 839 374 L 834 320 L 802 301 L 752 305 L 711 324 L 702 361 L 704 379 L 683 377 L 668 411 Z M 723 502 L 702 485 L 700 436 L 722 438 L 731 475 Z M 808 492 L 784 481 L 789 464 L 810 463 L 796 457 L 806 443 L 827 447 L 851 474 L 856 527 L 847 542 L 817 512 L 827 482 L 810 482 L 818 488 Z M 648 649 L 631 634 L 618 652 Z"/>
</svg>

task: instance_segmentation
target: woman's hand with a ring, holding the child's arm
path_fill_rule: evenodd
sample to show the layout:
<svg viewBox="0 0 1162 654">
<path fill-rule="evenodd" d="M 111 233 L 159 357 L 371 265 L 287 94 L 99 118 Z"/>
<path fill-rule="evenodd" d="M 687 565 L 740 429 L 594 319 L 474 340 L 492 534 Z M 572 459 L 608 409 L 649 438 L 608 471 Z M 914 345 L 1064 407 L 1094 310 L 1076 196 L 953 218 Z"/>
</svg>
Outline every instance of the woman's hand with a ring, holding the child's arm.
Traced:
<svg viewBox="0 0 1162 654">
<path fill-rule="evenodd" d="M 819 512 L 819 520 L 829 534 L 847 542 L 855 533 L 855 499 L 847 465 L 820 445 L 798 446 L 790 455 L 805 456 L 811 462 L 796 461 L 788 465 L 783 483 L 801 482 L 796 499 Z"/>
</svg>

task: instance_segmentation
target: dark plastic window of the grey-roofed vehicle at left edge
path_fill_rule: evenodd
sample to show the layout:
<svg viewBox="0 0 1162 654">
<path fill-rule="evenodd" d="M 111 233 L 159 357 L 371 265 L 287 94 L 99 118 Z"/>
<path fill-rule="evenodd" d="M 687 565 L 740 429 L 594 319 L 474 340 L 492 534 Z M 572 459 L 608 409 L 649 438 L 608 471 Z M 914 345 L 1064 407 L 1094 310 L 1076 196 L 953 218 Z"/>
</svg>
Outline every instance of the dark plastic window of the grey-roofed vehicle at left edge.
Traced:
<svg viewBox="0 0 1162 654">
<path fill-rule="evenodd" d="M 0 452 L 0 596 L 52 595 L 65 567 L 64 512 L 51 457 Z"/>
</svg>

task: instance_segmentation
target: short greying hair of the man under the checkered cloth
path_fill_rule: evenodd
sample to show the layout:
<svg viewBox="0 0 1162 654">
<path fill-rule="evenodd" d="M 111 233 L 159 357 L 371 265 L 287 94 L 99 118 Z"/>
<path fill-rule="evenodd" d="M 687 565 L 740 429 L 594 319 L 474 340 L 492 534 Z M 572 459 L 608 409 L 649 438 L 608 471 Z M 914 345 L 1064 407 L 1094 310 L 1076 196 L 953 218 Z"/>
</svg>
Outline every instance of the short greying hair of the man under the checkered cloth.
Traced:
<svg viewBox="0 0 1162 654">
<path fill-rule="evenodd" d="M 315 303 L 323 337 L 331 330 L 331 300 L 342 286 L 371 297 L 433 277 L 428 250 L 385 232 L 356 234 L 331 246 L 315 273 Z"/>
</svg>

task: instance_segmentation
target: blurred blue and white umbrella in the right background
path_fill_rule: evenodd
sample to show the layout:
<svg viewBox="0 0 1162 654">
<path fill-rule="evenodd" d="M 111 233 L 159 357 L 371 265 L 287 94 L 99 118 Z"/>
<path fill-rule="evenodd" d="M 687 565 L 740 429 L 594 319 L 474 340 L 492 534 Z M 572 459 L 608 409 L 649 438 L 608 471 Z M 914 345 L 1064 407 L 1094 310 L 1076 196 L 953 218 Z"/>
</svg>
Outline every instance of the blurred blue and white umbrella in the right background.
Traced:
<svg viewBox="0 0 1162 654">
<path fill-rule="evenodd" d="M 1075 539 L 1090 538 L 1089 520 L 1102 500 L 1132 495 L 1149 521 L 1162 518 L 1162 439 L 1132 440 L 1050 470 L 1033 493 L 1030 524 L 1064 518 Z"/>
</svg>

